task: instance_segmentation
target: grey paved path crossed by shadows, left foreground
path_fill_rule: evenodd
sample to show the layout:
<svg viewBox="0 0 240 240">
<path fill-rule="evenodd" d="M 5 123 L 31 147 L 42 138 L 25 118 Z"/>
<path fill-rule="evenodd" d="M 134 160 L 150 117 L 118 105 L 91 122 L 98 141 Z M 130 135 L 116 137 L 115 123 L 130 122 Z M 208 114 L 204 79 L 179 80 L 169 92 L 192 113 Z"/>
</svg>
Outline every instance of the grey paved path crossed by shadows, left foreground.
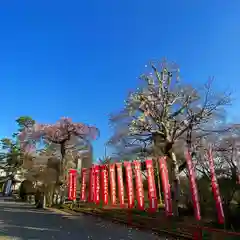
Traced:
<svg viewBox="0 0 240 240">
<path fill-rule="evenodd" d="M 0 240 L 157 240 L 152 233 L 131 229 L 93 216 L 37 210 L 0 198 Z"/>
</svg>

